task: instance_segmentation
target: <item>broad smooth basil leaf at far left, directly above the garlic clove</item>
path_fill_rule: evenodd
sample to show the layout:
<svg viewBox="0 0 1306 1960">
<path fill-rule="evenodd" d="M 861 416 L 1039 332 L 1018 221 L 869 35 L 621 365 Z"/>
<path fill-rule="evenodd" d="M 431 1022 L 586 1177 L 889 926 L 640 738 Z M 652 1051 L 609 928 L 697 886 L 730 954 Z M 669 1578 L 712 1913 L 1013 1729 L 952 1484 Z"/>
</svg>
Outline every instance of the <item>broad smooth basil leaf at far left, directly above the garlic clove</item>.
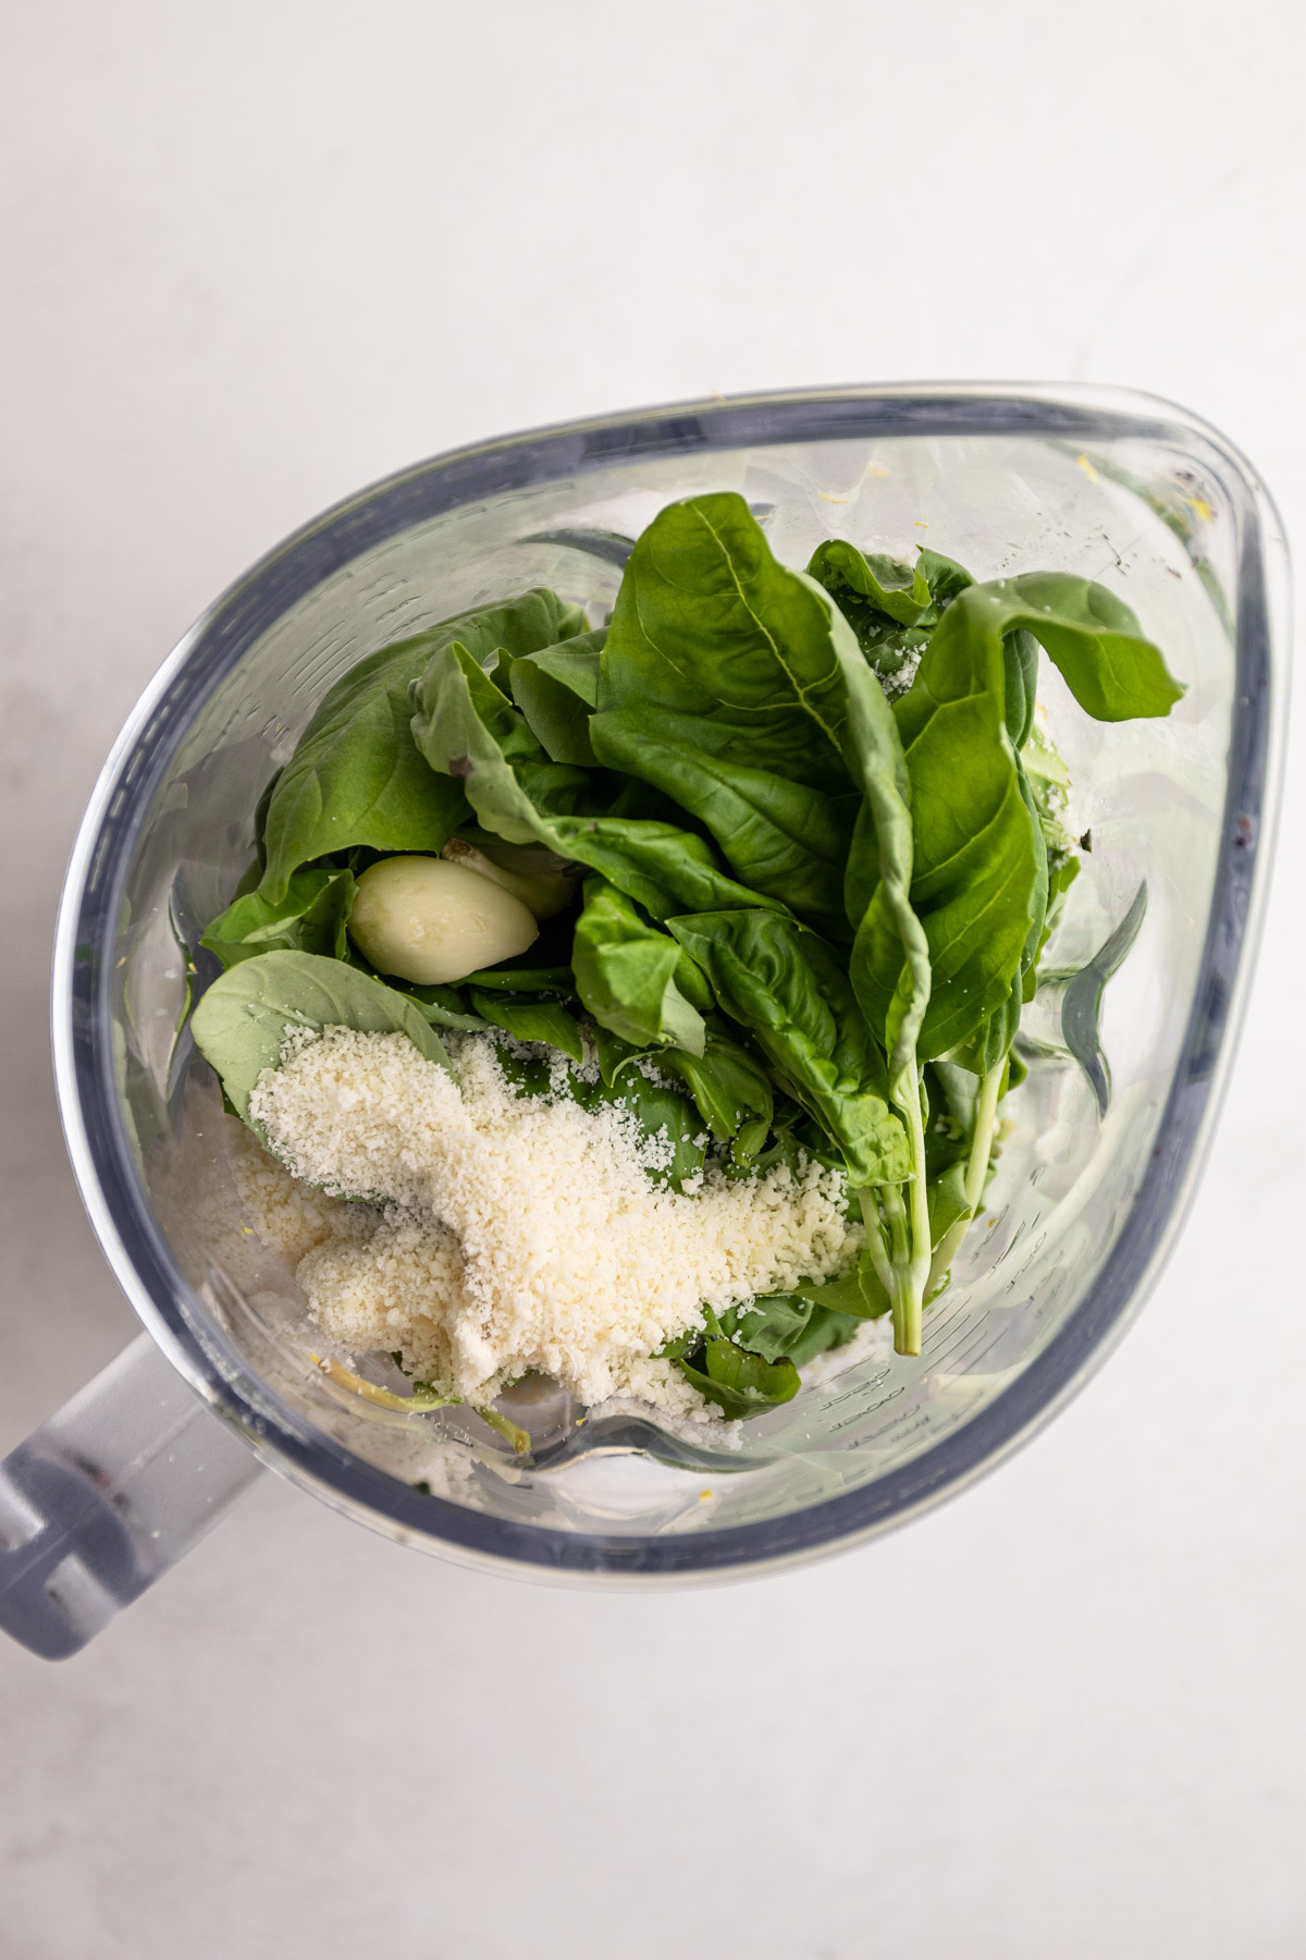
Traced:
<svg viewBox="0 0 1306 1960">
<path fill-rule="evenodd" d="M 276 904 L 311 858 L 370 845 L 439 853 L 466 819 L 458 782 L 435 774 L 411 735 L 409 686 L 452 637 L 476 659 L 531 653 L 576 631 L 576 608 L 536 588 L 382 647 L 323 696 L 268 798 L 262 896 Z"/>
</svg>

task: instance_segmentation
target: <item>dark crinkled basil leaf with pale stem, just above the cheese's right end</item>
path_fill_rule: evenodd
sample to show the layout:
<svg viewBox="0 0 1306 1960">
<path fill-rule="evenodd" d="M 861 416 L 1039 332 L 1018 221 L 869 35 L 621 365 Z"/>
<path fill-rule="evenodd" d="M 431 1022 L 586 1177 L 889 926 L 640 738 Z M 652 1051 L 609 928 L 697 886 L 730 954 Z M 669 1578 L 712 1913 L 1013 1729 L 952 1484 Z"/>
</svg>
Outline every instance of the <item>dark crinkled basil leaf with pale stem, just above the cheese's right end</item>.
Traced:
<svg viewBox="0 0 1306 1960">
<path fill-rule="evenodd" d="M 773 911 L 711 911 L 666 921 L 728 1015 L 750 1031 L 781 1086 L 838 1143 L 848 1178 L 901 1184 L 910 1152 L 889 1109 L 885 1058 L 838 953 Z"/>
</svg>

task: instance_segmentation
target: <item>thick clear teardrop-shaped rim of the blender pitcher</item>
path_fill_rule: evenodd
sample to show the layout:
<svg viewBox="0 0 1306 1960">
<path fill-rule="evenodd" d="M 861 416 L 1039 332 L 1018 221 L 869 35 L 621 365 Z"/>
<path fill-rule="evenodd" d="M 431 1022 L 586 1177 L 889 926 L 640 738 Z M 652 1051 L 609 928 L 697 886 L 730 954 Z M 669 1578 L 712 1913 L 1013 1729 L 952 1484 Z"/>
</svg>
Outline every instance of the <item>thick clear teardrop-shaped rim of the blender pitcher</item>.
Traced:
<svg viewBox="0 0 1306 1960">
<path fill-rule="evenodd" d="M 1192 1011 L 1157 1145 L 1091 1294 L 1020 1376 L 969 1421 L 860 1490 L 773 1519 L 693 1533 L 570 1533 L 427 1495 L 335 1443 L 276 1396 L 180 1274 L 127 1143 L 114 1082 L 116 919 L 143 811 L 194 713 L 290 604 L 386 537 L 533 484 L 715 449 L 873 435 L 1136 437 L 1200 455 L 1236 519 L 1236 690 L 1224 849 Z M 497 437 L 433 457 L 347 498 L 260 559 L 184 635 L 123 727 L 82 819 L 55 945 L 55 1076 L 69 1154 L 104 1252 L 172 1364 L 272 1468 L 394 1535 L 529 1576 L 681 1582 L 816 1556 L 956 1494 L 1083 1386 L 1142 1305 L 1181 1223 L 1210 1137 L 1263 909 L 1284 717 L 1273 641 L 1286 555 L 1275 508 L 1241 455 L 1187 410 L 1120 388 L 865 384 L 683 402 Z M 540 1576 L 544 1576 L 540 1572 Z"/>
</svg>

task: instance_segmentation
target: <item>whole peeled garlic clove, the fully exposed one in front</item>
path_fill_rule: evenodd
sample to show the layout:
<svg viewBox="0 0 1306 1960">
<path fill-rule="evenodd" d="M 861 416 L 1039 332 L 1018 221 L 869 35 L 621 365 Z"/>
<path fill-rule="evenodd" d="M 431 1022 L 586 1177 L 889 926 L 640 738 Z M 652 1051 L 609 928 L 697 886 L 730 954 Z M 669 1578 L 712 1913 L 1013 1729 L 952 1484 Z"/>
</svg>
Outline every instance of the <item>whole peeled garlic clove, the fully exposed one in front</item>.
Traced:
<svg viewBox="0 0 1306 1960">
<path fill-rule="evenodd" d="M 525 953 L 538 927 L 519 898 L 462 864 L 394 857 L 358 878 L 349 935 L 378 974 L 435 986 Z"/>
</svg>

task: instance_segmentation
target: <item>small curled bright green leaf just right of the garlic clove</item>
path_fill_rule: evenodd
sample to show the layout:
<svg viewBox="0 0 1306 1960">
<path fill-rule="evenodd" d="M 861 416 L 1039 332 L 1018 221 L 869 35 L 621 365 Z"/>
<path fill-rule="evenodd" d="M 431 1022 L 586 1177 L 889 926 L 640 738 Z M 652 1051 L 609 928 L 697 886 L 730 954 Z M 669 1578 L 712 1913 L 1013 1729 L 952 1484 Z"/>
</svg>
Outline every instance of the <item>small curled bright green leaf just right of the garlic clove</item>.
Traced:
<svg viewBox="0 0 1306 1960">
<path fill-rule="evenodd" d="M 703 1054 L 699 1005 L 713 1005 L 711 990 L 670 933 L 648 925 L 603 878 L 585 878 L 572 970 L 582 1004 L 601 1027 L 636 1049 L 670 1045 Z"/>
</svg>

